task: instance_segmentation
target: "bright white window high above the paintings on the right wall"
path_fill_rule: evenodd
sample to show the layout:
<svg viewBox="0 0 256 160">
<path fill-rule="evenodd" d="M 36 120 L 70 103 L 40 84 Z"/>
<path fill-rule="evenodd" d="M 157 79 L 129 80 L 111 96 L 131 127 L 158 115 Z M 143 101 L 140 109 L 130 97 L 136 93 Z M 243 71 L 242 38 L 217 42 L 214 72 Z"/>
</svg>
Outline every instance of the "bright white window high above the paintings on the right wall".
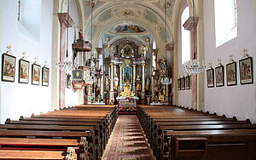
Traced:
<svg viewBox="0 0 256 160">
<path fill-rule="evenodd" d="M 237 37 L 236 0 L 214 0 L 216 47 Z"/>
</svg>

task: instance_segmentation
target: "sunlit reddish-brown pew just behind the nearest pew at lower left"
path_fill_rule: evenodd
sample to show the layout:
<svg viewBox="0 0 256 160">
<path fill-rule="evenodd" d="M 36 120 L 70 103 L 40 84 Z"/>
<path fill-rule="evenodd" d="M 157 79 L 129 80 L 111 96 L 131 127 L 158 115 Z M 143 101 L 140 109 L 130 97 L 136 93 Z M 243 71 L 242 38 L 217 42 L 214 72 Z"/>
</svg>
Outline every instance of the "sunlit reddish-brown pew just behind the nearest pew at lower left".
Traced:
<svg viewBox="0 0 256 160">
<path fill-rule="evenodd" d="M 88 141 L 85 137 L 80 140 L 0 138 L 0 146 L 0 150 L 20 151 L 67 151 L 71 147 L 78 159 L 89 159 Z"/>
</svg>

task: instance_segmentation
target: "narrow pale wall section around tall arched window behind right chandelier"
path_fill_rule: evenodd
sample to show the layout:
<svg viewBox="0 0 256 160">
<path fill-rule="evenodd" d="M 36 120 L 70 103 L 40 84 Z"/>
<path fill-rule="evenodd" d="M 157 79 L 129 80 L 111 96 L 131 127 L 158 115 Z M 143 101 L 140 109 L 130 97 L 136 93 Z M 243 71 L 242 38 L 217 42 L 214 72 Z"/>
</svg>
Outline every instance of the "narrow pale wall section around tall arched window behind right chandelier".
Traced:
<svg viewBox="0 0 256 160">
<path fill-rule="evenodd" d="M 181 9 L 179 12 L 178 17 L 181 17 L 183 14 L 183 9 L 185 9 L 188 6 L 185 0 L 183 0 L 183 3 L 181 5 Z M 178 63 L 178 77 L 187 76 L 186 72 L 183 70 L 182 66 L 182 32 L 181 32 L 181 19 L 178 21 L 178 33 L 177 33 L 177 63 Z M 191 89 L 189 90 L 178 90 L 177 91 L 177 105 L 179 106 L 186 106 L 191 108 Z"/>
</svg>

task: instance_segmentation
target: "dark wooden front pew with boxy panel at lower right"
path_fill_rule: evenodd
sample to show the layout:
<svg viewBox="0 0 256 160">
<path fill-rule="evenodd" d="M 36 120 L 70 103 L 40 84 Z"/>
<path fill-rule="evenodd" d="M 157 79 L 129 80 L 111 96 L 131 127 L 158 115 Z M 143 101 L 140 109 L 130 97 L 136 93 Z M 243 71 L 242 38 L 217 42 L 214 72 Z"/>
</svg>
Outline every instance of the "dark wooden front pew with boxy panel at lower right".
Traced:
<svg viewBox="0 0 256 160">
<path fill-rule="evenodd" d="M 191 140 L 198 137 L 207 139 L 205 147 L 202 140 Z M 253 160 L 256 157 L 256 129 L 166 131 L 165 139 L 169 148 L 167 159 Z"/>
</svg>

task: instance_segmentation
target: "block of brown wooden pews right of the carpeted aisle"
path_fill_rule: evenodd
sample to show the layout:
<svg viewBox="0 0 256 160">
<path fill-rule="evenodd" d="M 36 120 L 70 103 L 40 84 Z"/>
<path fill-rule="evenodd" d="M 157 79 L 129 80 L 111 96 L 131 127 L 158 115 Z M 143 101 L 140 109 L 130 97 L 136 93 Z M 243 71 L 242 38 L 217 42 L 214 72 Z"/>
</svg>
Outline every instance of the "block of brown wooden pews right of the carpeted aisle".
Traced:
<svg viewBox="0 0 256 160">
<path fill-rule="evenodd" d="M 164 107 L 164 108 L 161 108 L 161 107 Z M 183 110 L 182 111 L 180 110 L 181 108 L 177 108 L 173 106 L 171 107 L 161 106 L 161 107 L 156 106 L 154 108 L 154 106 L 151 106 L 151 107 L 143 106 L 143 107 L 138 107 L 138 111 L 137 111 L 137 115 L 142 123 L 143 129 L 147 135 L 148 141 L 152 149 L 154 150 L 155 156 L 158 159 L 164 159 L 164 158 L 176 159 L 177 155 L 179 155 L 178 157 L 179 159 L 183 156 L 188 156 L 187 153 L 190 153 L 190 156 L 193 156 L 193 154 L 195 155 L 199 154 L 196 151 L 179 151 L 177 154 L 177 151 L 176 151 L 177 144 L 174 145 L 173 141 L 172 143 L 170 142 L 170 140 L 172 140 L 172 137 L 174 137 L 175 134 L 169 135 L 169 133 L 177 134 L 179 132 L 183 133 L 183 132 L 194 131 L 193 134 L 196 134 L 197 132 L 200 133 L 200 131 L 201 132 L 208 131 L 207 133 L 211 133 L 211 131 L 214 131 L 212 132 L 212 133 L 215 133 L 214 136 L 218 136 L 220 137 L 219 139 L 222 140 L 221 136 L 224 136 L 224 134 L 234 133 L 232 132 L 233 130 L 239 130 L 239 131 L 243 130 L 242 134 L 244 135 L 241 140 L 243 140 L 243 142 L 247 142 L 246 140 L 249 140 L 249 142 L 253 144 L 252 142 L 253 139 L 248 139 L 248 137 L 252 133 L 256 134 L 255 132 L 256 126 L 255 124 L 250 124 L 251 122 L 249 120 L 237 121 L 236 117 L 224 119 L 225 116 L 217 116 L 216 113 L 212 115 L 212 114 L 209 114 L 208 112 L 203 113 L 202 111 L 195 111 L 195 110 L 184 109 L 184 108 L 182 108 Z M 162 112 L 160 111 L 166 111 L 166 115 L 169 114 L 169 115 L 175 115 L 175 116 L 165 117 L 165 118 L 168 118 L 170 121 L 168 120 L 162 121 L 163 117 L 161 116 Z M 176 111 L 182 112 L 182 114 L 180 114 L 180 116 L 177 116 L 178 114 L 175 114 Z M 195 112 L 195 115 L 191 115 L 191 113 L 193 112 Z M 154 116 L 151 117 L 152 113 L 154 113 L 153 114 Z M 188 121 L 188 119 L 190 121 Z M 217 131 L 221 130 L 224 132 L 216 132 L 215 130 Z M 199 136 L 201 136 L 201 134 L 199 134 Z M 234 135 L 232 136 L 234 137 Z M 237 141 L 239 141 L 240 138 L 239 136 L 235 136 L 235 138 L 236 139 L 234 139 L 235 141 L 233 142 L 237 145 Z M 192 146 L 193 145 L 198 146 L 196 145 L 197 143 L 196 140 L 194 140 L 195 142 L 192 143 L 191 140 L 189 140 L 189 138 L 186 138 L 186 139 L 188 139 L 189 142 L 182 142 L 181 144 L 188 143 L 189 144 L 188 146 L 191 146 L 191 144 Z M 203 139 L 202 141 L 204 141 L 202 142 L 202 144 L 204 144 L 206 143 L 205 141 L 209 139 L 209 136 L 207 137 L 207 139 L 205 137 L 202 137 L 202 139 Z M 224 141 L 220 141 L 219 143 L 224 144 Z M 211 145 L 212 144 L 210 144 L 210 146 Z M 250 146 L 249 148 L 255 149 L 255 144 L 253 145 Z M 236 148 L 235 146 L 230 146 L 230 147 Z M 173 156 L 173 155 L 176 155 L 176 156 Z M 191 157 L 191 159 L 193 158 L 195 157 Z"/>
</svg>

